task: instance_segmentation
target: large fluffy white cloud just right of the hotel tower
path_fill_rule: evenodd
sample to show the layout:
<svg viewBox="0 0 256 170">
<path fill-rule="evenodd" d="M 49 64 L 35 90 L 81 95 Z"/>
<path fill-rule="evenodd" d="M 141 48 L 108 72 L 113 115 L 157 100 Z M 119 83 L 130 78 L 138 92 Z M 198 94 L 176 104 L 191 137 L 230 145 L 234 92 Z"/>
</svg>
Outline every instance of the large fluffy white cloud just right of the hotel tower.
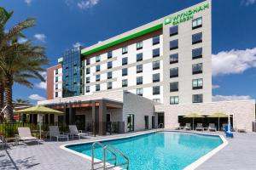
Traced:
<svg viewBox="0 0 256 170">
<path fill-rule="evenodd" d="M 212 76 L 239 74 L 256 67 L 256 48 L 212 54 Z"/>
</svg>

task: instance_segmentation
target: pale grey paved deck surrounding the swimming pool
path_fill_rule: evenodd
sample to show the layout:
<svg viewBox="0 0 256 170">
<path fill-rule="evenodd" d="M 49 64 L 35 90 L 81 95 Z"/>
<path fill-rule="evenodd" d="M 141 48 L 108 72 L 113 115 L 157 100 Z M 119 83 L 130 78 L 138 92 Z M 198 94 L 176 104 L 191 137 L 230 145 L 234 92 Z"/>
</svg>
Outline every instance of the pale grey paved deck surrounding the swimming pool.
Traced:
<svg viewBox="0 0 256 170">
<path fill-rule="evenodd" d="M 90 161 L 60 148 L 63 144 L 83 143 L 98 139 L 115 139 L 128 135 L 155 132 L 144 131 L 125 133 L 91 139 L 64 142 L 44 142 L 43 144 L 20 144 L 0 150 L 0 169 L 74 169 L 90 170 Z M 208 133 L 208 132 L 207 132 Z M 224 134 L 224 133 L 212 133 Z M 234 139 L 197 169 L 255 169 L 256 133 L 234 133 Z"/>
</svg>

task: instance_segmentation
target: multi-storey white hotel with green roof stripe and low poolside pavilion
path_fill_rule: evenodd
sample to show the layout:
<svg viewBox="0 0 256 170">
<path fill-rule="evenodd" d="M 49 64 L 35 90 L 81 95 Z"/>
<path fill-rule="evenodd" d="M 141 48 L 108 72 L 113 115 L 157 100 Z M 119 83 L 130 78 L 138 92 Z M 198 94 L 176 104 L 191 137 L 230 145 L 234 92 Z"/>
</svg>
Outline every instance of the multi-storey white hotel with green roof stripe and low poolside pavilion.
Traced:
<svg viewBox="0 0 256 170">
<path fill-rule="evenodd" d="M 166 124 L 172 114 L 176 123 L 166 127 L 175 127 L 170 108 L 212 102 L 212 3 L 74 48 L 58 63 L 47 71 L 47 100 L 39 104 L 64 109 L 67 123 L 94 122 L 106 134 L 107 122 L 127 132 Z"/>
</svg>

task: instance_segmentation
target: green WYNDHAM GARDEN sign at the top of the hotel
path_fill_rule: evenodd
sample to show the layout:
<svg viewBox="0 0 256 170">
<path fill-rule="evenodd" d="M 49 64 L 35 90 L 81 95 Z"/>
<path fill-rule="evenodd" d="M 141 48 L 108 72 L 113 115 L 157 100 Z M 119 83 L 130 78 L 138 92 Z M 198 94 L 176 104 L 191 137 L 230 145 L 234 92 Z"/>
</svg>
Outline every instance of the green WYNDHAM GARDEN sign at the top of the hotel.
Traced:
<svg viewBox="0 0 256 170">
<path fill-rule="evenodd" d="M 194 18 L 194 14 L 195 13 L 203 11 L 203 10 L 205 10 L 207 8 L 210 8 L 210 4 L 209 3 L 205 3 L 203 5 L 195 7 L 193 9 L 189 9 L 187 12 L 183 12 L 181 14 L 176 14 L 174 16 L 167 17 L 165 19 L 165 21 L 164 21 L 165 25 L 172 23 L 173 26 L 176 26 L 176 25 L 178 25 L 178 24 L 180 24 L 182 22 L 185 22 L 187 20 L 192 20 Z"/>
</svg>

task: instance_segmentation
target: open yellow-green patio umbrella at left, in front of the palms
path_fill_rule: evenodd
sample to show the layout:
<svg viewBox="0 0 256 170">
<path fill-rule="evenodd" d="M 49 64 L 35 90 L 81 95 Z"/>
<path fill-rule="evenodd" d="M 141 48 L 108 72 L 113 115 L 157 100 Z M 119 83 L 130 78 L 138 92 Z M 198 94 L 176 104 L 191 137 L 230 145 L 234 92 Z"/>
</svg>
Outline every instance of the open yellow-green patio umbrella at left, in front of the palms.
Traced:
<svg viewBox="0 0 256 170">
<path fill-rule="evenodd" d="M 15 111 L 18 114 L 29 114 L 29 115 L 40 115 L 43 116 L 45 114 L 55 114 L 55 115 L 62 115 L 64 114 L 62 111 L 56 111 L 54 109 L 50 109 L 45 107 L 44 105 L 35 105 L 30 108 L 26 108 L 24 110 Z M 41 139 L 41 120 L 39 119 L 39 132 L 40 132 L 40 139 Z"/>
</svg>

